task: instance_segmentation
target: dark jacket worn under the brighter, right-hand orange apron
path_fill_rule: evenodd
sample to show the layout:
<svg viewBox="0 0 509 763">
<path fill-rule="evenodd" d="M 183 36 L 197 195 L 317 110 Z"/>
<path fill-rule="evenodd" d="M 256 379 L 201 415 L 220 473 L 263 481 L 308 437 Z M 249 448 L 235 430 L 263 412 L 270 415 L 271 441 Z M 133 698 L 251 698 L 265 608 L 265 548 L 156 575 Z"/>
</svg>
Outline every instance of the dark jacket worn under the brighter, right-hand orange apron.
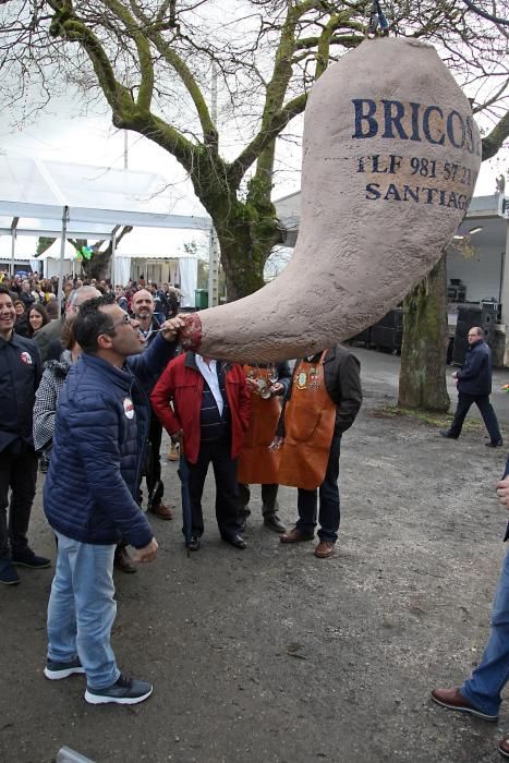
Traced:
<svg viewBox="0 0 509 763">
<path fill-rule="evenodd" d="M 318 362 L 322 352 L 313 356 L 313 361 Z M 301 359 L 295 362 L 293 376 L 299 372 Z M 336 404 L 336 426 L 335 434 L 342 434 L 349 429 L 362 404 L 361 387 L 361 363 L 349 350 L 341 344 L 327 350 L 324 360 L 325 387 Z M 284 408 L 290 400 L 293 385 L 290 384 L 283 400 L 283 410 L 278 424 L 277 434 L 284 436 Z"/>
</svg>

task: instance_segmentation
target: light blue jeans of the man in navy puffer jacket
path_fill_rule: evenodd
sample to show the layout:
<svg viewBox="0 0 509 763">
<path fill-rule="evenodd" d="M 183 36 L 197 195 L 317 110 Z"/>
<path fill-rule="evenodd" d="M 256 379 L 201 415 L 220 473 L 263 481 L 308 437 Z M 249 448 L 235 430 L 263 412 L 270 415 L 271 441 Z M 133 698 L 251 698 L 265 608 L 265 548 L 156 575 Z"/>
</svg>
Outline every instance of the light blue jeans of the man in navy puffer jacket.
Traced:
<svg viewBox="0 0 509 763">
<path fill-rule="evenodd" d="M 90 689 L 105 689 L 120 670 L 110 646 L 117 615 L 114 545 L 80 543 L 57 533 L 59 553 L 48 604 L 48 657 L 66 663 L 76 656 Z"/>
</svg>

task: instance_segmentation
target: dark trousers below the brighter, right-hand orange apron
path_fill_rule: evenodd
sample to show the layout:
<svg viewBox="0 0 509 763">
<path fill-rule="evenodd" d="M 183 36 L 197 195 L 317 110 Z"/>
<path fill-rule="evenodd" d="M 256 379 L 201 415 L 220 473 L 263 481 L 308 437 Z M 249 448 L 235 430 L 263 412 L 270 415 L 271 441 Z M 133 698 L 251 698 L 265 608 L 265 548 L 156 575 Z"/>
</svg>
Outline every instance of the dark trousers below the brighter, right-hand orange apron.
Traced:
<svg viewBox="0 0 509 763">
<path fill-rule="evenodd" d="M 338 540 L 340 521 L 338 487 L 340 445 L 341 435 L 335 434 L 330 444 L 324 482 L 314 491 L 299 488 L 296 498 L 299 519 L 295 526 L 306 535 L 311 535 L 315 532 L 316 516 L 318 513 L 320 524 L 318 537 L 320 541 L 332 541 L 332 543 Z M 319 510 L 317 512 L 318 496 Z"/>
</svg>

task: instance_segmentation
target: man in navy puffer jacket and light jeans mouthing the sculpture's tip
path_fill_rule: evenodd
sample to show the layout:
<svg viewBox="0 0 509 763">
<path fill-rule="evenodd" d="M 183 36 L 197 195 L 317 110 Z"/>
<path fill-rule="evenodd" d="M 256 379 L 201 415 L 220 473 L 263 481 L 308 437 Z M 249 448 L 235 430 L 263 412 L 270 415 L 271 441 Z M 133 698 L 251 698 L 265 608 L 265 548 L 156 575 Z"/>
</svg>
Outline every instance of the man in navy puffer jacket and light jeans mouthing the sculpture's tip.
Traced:
<svg viewBox="0 0 509 763">
<path fill-rule="evenodd" d="M 60 679 L 85 673 L 85 699 L 92 704 L 135 704 L 153 690 L 121 675 L 110 645 L 117 613 L 113 554 L 120 538 L 137 549 L 140 562 L 157 554 L 136 498 L 148 393 L 174 355 L 182 320 L 165 323 L 143 355 L 137 326 L 113 296 L 81 306 L 74 330 L 82 356 L 60 395 L 44 492 L 59 545 L 45 675 Z"/>
</svg>

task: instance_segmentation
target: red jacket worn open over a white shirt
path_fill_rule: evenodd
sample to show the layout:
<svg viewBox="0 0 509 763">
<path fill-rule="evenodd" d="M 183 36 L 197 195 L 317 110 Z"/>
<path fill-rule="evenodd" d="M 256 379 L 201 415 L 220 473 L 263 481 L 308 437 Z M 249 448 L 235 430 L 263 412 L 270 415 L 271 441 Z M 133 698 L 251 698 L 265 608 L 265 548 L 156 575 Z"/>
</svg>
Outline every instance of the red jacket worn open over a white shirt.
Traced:
<svg viewBox="0 0 509 763">
<path fill-rule="evenodd" d="M 150 396 L 153 409 L 165 429 L 170 435 L 183 432 L 185 458 L 191 463 L 198 460 L 203 386 L 204 378 L 196 366 L 194 352 L 186 352 L 168 363 Z M 237 363 L 227 365 L 225 386 L 231 412 L 233 459 L 241 451 L 250 423 L 250 393 L 242 366 Z"/>
</svg>

